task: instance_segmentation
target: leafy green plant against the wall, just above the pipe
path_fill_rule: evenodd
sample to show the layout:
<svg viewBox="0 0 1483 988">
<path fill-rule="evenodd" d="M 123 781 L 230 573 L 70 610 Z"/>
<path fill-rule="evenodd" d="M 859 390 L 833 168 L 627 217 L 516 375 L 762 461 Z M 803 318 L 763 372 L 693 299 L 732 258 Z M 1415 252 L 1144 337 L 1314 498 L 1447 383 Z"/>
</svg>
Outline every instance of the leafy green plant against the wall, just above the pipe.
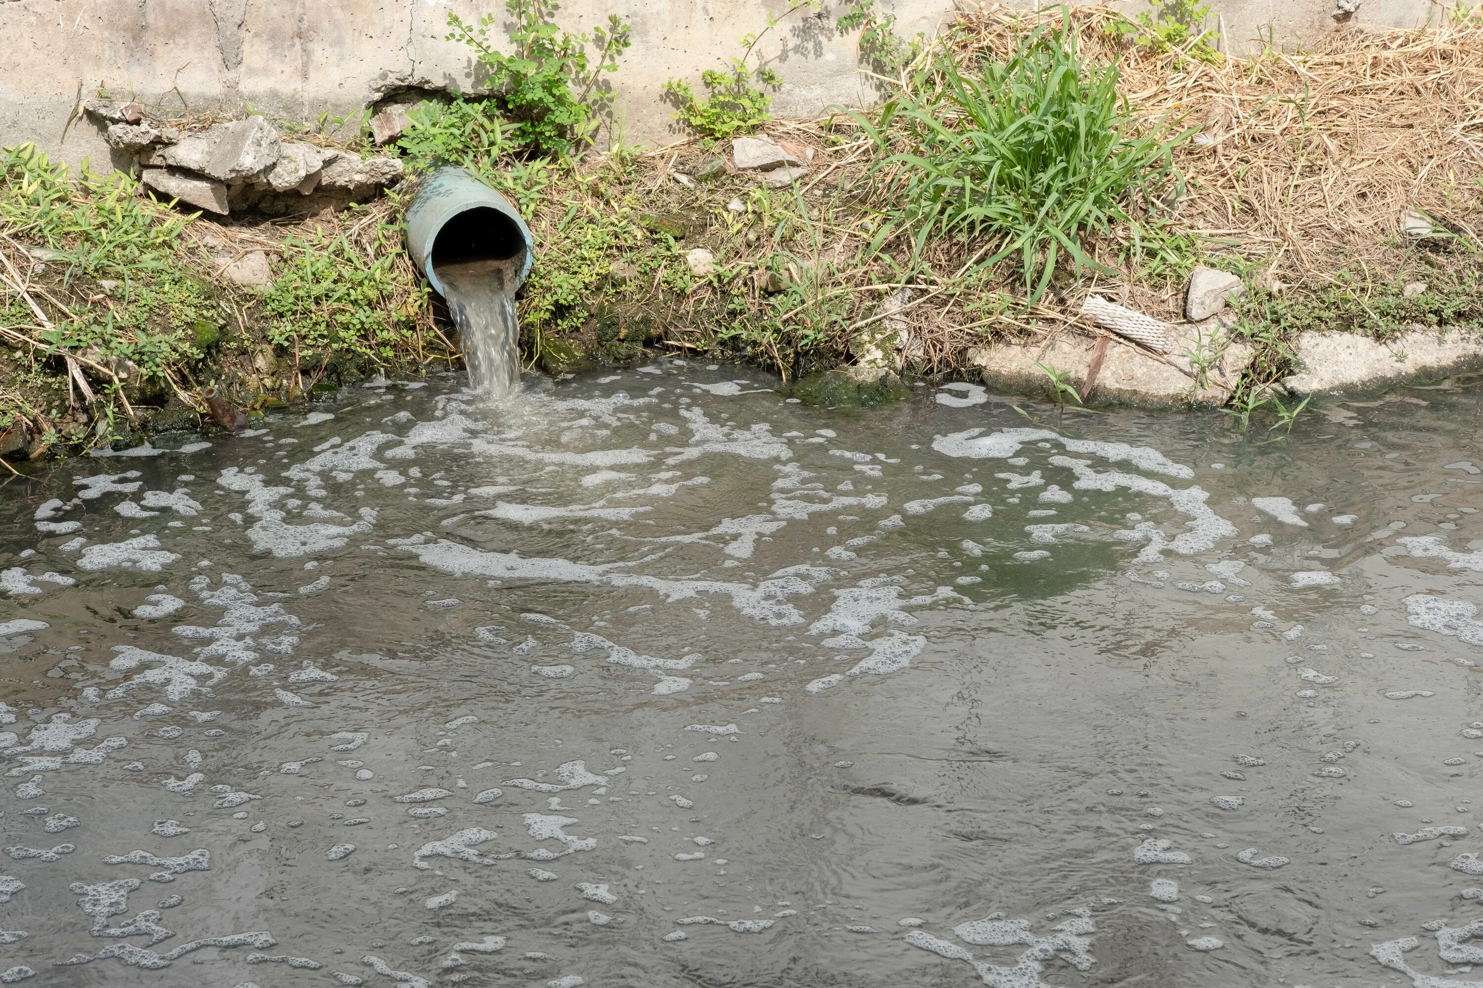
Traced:
<svg viewBox="0 0 1483 988">
<path fill-rule="evenodd" d="M 515 144 L 565 157 L 592 141 L 599 111 L 610 102 L 605 95 L 595 98 L 593 87 L 602 73 L 617 71 L 618 56 L 632 41 L 629 22 L 615 13 L 590 36 L 571 34 L 553 19 L 558 6 L 556 0 L 506 0 L 515 18 L 513 55 L 489 43 L 492 13 L 478 24 L 449 13 L 446 40 L 467 44 L 488 71 L 486 84 L 510 120 Z M 589 44 L 596 49 L 592 56 Z"/>
</svg>

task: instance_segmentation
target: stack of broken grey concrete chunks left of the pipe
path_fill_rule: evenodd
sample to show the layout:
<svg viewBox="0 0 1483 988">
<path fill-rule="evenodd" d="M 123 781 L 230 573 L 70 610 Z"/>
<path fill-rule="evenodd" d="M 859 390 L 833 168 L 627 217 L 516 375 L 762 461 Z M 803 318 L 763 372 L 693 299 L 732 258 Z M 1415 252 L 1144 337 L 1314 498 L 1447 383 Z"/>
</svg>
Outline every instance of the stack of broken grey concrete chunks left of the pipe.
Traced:
<svg viewBox="0 0 1483 988">
<path fill-rule="evenodd" d="M 285 139 L 261 116 L 184 130 L 135 104 L 89 101 L 83 110 L 105 124 L 108 147 L 135 156 L 145 188 L 221 216 L 246 207 L 277 215 L 316 194 L 343 204 L 402 178 L 399 158 Z"/>
</svg>

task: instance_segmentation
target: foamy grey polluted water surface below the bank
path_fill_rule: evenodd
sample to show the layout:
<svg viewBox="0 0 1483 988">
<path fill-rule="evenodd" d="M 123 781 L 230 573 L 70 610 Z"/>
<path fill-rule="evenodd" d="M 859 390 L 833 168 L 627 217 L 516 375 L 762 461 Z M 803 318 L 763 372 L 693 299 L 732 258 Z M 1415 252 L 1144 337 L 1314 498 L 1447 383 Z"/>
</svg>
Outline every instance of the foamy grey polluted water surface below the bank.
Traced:
<svg viewBox="0 0 1483 988">
<path fill-rule="evenodd" d="M 0 982 L 1479 984 L 1479 391 L 461 384 L 0 489 Z"/>
</svg>

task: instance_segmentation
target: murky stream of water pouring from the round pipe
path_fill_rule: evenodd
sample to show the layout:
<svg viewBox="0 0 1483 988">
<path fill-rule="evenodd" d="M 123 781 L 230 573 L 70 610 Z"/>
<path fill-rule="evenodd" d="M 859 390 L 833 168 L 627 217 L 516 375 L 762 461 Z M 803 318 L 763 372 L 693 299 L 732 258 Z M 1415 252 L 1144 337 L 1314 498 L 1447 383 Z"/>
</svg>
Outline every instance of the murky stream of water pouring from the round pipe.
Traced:
<svg viewBox="0 0 1483 988">
<path fill-rule="evenodd" d="M 521 381 L 521 326 L 515 314 L 515 268 L 523 255 L 437 265 L 448 313 L 458 327 L 469 382 L 485 397 L 510 395 Z"/>
</svg>

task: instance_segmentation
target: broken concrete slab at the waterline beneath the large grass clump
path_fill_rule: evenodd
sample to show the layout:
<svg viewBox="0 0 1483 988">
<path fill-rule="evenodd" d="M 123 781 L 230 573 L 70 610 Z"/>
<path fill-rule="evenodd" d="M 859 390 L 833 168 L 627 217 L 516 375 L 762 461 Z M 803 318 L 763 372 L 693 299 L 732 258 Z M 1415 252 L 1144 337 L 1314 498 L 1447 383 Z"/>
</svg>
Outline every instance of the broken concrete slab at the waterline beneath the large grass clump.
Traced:
<svg viewBox="0 0 1483 988">
<path fill-rule="evenodd" d="M 1252 358 L 1246 344 L 1234 342 L 1213 320 L 1170 327 L 1173 347 L 1164 358 L 1117 339 L 1106 353 L 1089 404 L 1129 403 L 1143 406 L 1223 404 L 1241 370 Z M 1047 394 L 1050 378 L 1035 364 L 1066 373 L 1066 384 L 1087 391 L 1096 338 L 1060 335 L 1046 341 L 1005 341 L 968 351 L 968 363 L 983 382 L 1001 391 Z M 1197 361 L 1194 357 L 1198 356 Z M 1204 364 L 1201 373 L 1197 363 Z"/>
</svg>

